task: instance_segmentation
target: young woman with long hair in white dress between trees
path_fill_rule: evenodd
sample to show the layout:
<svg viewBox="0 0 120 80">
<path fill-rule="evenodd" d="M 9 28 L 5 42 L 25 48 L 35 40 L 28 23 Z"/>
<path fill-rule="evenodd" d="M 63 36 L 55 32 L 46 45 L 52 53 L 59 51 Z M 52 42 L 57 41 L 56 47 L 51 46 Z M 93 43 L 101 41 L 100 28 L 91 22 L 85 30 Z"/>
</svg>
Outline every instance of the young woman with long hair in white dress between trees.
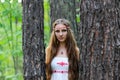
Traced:
<svg viewBox="0 0 120 80">
<path fill-rule="evenodd" d="M 78 80 L 79 48 L 77 47 L 70 22 L 57 19 L 46 48 L 47 80 Z"/>
</svg>

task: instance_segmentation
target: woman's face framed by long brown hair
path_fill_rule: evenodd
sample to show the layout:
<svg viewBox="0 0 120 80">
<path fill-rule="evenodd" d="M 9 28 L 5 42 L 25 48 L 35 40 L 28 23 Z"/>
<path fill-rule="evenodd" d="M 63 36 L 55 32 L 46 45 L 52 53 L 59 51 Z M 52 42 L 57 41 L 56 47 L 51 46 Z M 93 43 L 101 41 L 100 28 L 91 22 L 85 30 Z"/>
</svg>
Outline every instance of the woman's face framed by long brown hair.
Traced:
<svg viewBox="0 0 120 80">
<path fill-rule="evenodd" d="M 67 28 L 63 24 L 57 24 L 54 28 L 55 35 L 60 42 L 65 42 L 67 37 Z"/>
</svg>

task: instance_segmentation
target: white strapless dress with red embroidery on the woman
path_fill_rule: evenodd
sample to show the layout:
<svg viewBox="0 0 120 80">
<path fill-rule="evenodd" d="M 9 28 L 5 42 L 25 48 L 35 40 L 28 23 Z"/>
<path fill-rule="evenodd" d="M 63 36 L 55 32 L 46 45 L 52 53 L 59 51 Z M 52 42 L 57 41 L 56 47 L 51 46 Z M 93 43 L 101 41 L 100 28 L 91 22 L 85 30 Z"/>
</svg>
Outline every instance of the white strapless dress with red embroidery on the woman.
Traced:
<svg viewBox="0 0 120 80">
<path fill-rule="evenodd" d="M 68 58 L 55 57 L 51 62 L 51 80 L 68 80 Z"/>
</svg>

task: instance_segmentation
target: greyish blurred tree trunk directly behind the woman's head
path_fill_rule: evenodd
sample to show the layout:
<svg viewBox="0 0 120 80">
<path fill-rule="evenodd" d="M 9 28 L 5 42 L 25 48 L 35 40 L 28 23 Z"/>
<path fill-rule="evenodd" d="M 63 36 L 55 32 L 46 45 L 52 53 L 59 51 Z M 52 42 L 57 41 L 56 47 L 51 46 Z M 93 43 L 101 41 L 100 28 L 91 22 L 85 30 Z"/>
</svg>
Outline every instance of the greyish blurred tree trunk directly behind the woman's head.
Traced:
<svg viewBox="0 0 120 80">
<path fill-rule="evenodd" d="M 58 18 L 68 19 L 74 33 L 77 34 L 75 0 L 50 0 L 50 17 L 51 23 Z"/>
</svg>

